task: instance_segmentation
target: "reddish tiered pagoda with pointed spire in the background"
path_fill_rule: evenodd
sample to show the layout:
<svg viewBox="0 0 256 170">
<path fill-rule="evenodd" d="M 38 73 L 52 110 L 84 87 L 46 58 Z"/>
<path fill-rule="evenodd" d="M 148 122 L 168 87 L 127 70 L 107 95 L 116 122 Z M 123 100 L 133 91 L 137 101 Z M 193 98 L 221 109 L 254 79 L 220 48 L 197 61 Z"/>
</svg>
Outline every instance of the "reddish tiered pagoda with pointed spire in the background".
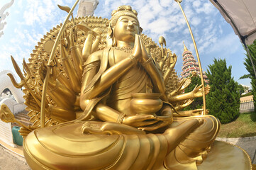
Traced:
<svg viewBox="0 0 256 170">
<path fill-rule="evenodd" d="M 183 42 L 183 45 L 184 45 L 184 52 L 182 54 L 183 66 L 182 66 L 182 73 L 181 73 L 180 79 L 189 77 L 192 72 L 196 72 L 200 77 L 199 64 L 194 59 L 192 52 L 187 50 L 187 47 L 184 44 L 184 42 Z M 205 83 L 208 84 L 209 80 L 206 77 L 205 72 L 203 72 L 203 77 L 204 77 Z"/>
</svg>

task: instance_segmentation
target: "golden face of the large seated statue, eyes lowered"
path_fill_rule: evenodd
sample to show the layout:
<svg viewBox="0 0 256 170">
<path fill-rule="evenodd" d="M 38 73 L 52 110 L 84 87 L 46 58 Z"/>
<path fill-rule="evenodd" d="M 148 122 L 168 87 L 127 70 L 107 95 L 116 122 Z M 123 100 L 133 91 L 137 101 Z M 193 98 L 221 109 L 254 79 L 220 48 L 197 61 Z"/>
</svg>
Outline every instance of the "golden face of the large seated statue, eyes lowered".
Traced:
<svg viewBox="0 0 256 170">
<path fill-rule="evenodd" d="M 114 27 L 114 36 L 116 40 L 124 42 L 134 42 L 135 34 L 139 34 L 140 26 L 138 21 L 131 16 L 121 16 Z"/>
</svg>

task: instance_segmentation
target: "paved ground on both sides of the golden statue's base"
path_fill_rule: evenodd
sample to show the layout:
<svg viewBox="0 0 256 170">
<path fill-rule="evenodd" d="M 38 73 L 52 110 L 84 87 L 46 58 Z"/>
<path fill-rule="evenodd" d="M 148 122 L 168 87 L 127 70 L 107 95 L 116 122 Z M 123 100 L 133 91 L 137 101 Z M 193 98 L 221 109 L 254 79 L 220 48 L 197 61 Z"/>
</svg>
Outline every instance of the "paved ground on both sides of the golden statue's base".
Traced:
<svg viewBox="0 0 256 170">
<path fill-rule="evenodd" d="M 252 164 L 256 164 L 256 137 L 217 137 L 216 140 L 226 141 L 245 149 L 252 159 Z M 13 152 L 0 145 L 0 170 L 30 170 L 30 168 L 23 157 L 13 154 Z"/>
</svg>

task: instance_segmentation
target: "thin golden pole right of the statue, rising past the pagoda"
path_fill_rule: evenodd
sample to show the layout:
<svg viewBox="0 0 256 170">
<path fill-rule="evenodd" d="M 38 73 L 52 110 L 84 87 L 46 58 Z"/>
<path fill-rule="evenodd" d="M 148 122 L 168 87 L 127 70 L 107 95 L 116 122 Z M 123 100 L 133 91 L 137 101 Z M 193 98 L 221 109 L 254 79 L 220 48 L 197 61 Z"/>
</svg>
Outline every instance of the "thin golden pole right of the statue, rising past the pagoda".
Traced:
<svg viewBox="0 0 256 170">
<path fill-rule="evenodd" d="M 203 111 L 204 111 L 204 112 L 202 113 L 202 115 L 205 115 L 205 114 L 206 114 L 206 92 L 205 92 L 205 88 L 204 88 L 204 77 L 203 77 L 203 71 L 202 71 L 201 62 L 200 62 L 200 58 L 199 58 L 199 52 L 198 52 L 198 50 L 197 50 L 196 42 L 195 42 L 195 40 L 194 40 L 194 35 L 193 35 L 193 33 L 192 33 L 191 27 L 189 26 L 189 21 L 187 20 L 187 16 L 185 15 L 185 13 L 184 13 L 184 11 L 183 11 L 183 9 L 182 9 L 182 6 L 180 5 L 180 3 L 182 2 L 182 0 L 174 0 L 174 1 L 177 1 L 177 3 L 179 4 L 179 8 L 181 9 L 182 14 L 183 14 L 183 16 L 184 16 L 184 18 L 185 18 L 185 21 L 186 21 L 187 26 L 188 26 L 188 28 L 189 28 L 189 33 L 190 33 L 191 38 L 192 38 L 192 40 L 193 40 L 194 48 L 195 48 L 195 50 L 196 50 L 196 57 L 197 57 L 197 60 L 198 60 L 198 62 L 199 62 L 199 69 L 200 69 L 200 76 L 201 76 L 201 84 L 203 85 L 203 86 L 202 86 L 202 89 L 203 89 L 203 104 L 204 104 L 204 105 L 203 105 Z"/>
</svg>

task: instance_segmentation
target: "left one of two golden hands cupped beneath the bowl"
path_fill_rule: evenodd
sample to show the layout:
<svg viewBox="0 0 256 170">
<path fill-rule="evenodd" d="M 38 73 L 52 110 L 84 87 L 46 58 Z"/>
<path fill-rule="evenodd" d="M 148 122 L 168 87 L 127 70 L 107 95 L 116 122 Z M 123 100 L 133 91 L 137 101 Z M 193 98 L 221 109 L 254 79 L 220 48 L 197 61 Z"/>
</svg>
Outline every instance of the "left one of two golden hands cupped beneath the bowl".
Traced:
<svg viewBox="0 0 256 170">
<path fill-rule="evenodd" d="M 130 115 L 123 118 L 123 124 L 138 128 L 157 123 L 154 115 Z"/>
</svg>

